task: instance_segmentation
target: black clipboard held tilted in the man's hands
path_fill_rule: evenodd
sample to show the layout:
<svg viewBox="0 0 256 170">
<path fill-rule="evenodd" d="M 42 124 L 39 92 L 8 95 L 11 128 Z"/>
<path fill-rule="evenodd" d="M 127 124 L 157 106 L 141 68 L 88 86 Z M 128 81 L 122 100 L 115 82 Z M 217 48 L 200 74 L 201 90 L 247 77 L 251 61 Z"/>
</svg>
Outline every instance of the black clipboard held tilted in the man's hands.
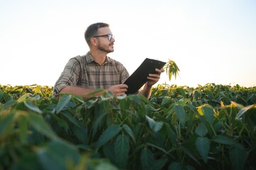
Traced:
<svg viewBox="0 0 256 170">
<path fill-rule="evenodd" d="M 154 74 L 155 69 L 162 69 L 166 62 L 146 58 L 140 67 L 126 79 L 123 84 L 128 86 L 126 94 L 135 94 L 148 81 L 148 74 Z"/>
</svg>

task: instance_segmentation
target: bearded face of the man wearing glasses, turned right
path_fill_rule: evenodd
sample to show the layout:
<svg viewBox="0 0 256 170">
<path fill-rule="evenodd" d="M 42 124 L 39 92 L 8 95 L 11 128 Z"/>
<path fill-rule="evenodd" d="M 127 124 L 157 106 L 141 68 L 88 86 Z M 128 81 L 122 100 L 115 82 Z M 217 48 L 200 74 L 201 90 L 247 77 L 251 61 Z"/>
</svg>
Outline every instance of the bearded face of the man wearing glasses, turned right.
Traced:
<svg viewBox="0 0 256 170">
<path fill-rule="evenodd" d="M 108 27 L 99 28 L 98 30 L 98 36 L 106 35 L 102 37 L 97 37 L 98 42 L 98 50 L 104 51 L 104 52 L 113 52 L 113 42 L 115 42 L 115 39 L 111 36 L 112 32 Z M 110 40 L 108 40 L 110 39 Z"/>
</svg>

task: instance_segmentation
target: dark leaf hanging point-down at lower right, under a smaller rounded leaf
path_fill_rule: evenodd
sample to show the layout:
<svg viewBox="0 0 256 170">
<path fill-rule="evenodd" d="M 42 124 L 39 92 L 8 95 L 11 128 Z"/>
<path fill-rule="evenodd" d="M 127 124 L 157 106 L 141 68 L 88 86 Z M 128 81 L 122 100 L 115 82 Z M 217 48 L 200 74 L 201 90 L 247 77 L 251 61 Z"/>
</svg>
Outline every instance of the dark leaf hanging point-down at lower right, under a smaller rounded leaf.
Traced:
<svg viewBox="0 0 256 170">
<path fill-rule="evenodd" d="M 208 152 L 210 150 L 210 140 L 207 137 L 197 137 L 196 148 L 199 151 L 205 163 L 208 161 Z"/>
</svg>

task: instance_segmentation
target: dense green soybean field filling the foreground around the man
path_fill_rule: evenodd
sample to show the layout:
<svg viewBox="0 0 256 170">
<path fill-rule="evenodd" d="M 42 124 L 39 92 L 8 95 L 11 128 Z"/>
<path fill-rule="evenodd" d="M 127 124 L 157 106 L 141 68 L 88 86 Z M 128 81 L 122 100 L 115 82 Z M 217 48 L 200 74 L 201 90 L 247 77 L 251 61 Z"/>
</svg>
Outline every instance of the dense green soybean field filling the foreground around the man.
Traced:
<svg viewBox="0 0 256 170">
<path fill-rule="evenodd" d="M 255 169 L 255 92 L 159 85 L 150 100 L 83 100 L 0 86 L 0 169 Z"/>
</svg>

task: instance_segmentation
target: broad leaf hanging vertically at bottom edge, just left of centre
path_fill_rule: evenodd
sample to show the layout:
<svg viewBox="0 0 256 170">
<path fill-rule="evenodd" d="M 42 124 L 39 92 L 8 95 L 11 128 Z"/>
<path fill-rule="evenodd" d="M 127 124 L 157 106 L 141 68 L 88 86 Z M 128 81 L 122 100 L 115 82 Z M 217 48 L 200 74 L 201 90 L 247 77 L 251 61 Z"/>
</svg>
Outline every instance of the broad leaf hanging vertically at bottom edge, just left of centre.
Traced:
<svg viewBox="0 0 256 170">
<path fill-rule="evenodd" d="M 129 149 L 129 138 L 126 135 L 119 135 L 115 142 L 115 162 L 119 169 L 126 169 Z"/>
</svg>

